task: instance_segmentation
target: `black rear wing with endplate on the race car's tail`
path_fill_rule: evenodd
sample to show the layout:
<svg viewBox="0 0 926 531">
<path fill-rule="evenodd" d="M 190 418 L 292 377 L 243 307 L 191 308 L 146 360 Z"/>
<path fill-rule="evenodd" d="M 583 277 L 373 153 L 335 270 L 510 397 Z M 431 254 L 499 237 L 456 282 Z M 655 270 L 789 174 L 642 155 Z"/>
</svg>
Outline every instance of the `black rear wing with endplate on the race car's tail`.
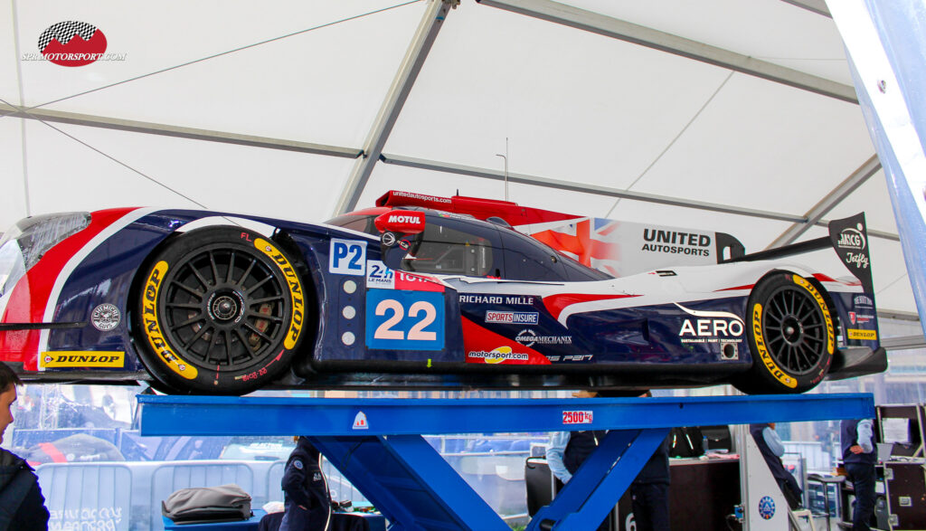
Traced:
<svg viewBox="0 0 926 531">
<path fill-rule="evenodd" d="M 833 220 L 829 223 L 830 235 L 822 236 L 806 242 L 790 246 L 775 247 L 757 253 L 751 253 L 724 262 L 756 261 L 779 259 L 811 251 L 832 247 L 836 256 L 845 265 L 853 276 L 862 284 L 866 293 L 874 293 L 871 281 L 870 252 L 868 244 L 868 229 L 865 224 L 865 213 L 859 212 L 842 220 Z"/>
</svg>

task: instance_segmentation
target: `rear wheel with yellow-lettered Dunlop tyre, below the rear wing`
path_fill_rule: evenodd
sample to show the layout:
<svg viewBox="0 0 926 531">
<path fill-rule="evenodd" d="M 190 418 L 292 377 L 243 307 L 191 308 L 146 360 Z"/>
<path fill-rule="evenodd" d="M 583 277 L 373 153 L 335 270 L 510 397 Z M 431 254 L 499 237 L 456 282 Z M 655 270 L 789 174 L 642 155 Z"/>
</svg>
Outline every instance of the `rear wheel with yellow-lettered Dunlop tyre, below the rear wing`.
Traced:
<svg viewBox="0 0 926 531">
<path fill-rule="evenodd" d="M 733 385 L 748 394 L 803 393 L 832 363 L 835 323 L 826 300 L 800 275 L 774 272 L 757 284 L 746 308 L 752 368 Z"/>
</svg>

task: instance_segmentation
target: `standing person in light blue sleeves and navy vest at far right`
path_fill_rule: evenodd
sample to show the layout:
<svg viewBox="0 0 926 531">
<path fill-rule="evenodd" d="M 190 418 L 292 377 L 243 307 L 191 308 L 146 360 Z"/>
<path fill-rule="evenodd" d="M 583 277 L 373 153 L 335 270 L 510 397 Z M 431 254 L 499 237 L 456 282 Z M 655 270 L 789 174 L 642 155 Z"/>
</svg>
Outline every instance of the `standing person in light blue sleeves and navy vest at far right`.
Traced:
<svg viewBox="0 0 926 531">
<path fill-rule="evenodd" d="M 843 446 L 845 475 L 856 492 L 856 508 L 852 512 L 852 529 L 869 531 L 874 514 L 874 465 L 878 461 L 873 441 L 874 430 L 869 419 L 845 420 L 840 425 L 839 440 Z"/>
</svg>

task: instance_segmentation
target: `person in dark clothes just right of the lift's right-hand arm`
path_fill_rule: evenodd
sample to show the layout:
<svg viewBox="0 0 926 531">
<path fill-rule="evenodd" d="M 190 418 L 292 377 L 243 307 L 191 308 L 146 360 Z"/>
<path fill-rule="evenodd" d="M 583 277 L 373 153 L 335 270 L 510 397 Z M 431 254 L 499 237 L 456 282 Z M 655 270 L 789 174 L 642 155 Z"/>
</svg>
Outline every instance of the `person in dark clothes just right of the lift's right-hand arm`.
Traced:
<svg viewBox="0 0 926 531">
<path fill-rule="evenodd" d="M 642 395 L 652 396 L 649 391 Z M 631 484 L 637 531 L 669 531 L 669 436 L 662 440 Z"/>
</svg>

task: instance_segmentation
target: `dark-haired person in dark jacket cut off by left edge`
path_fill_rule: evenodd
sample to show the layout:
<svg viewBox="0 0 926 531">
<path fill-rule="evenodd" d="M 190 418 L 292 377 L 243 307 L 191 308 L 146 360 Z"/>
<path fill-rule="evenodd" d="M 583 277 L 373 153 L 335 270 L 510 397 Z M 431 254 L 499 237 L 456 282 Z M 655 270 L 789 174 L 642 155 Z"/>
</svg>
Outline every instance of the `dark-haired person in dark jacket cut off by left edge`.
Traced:
<svg viewBox="0 0 926 531">
<path fill-rule="evenodd" d="M 22 381 L 0 362 L 0 443 L 9 424 L 13 424 L 16 386 Z M 39 478 L 18 455 L 0 449 L 0 531 L 48 529 L 48 510 Z"/>
</svg>

